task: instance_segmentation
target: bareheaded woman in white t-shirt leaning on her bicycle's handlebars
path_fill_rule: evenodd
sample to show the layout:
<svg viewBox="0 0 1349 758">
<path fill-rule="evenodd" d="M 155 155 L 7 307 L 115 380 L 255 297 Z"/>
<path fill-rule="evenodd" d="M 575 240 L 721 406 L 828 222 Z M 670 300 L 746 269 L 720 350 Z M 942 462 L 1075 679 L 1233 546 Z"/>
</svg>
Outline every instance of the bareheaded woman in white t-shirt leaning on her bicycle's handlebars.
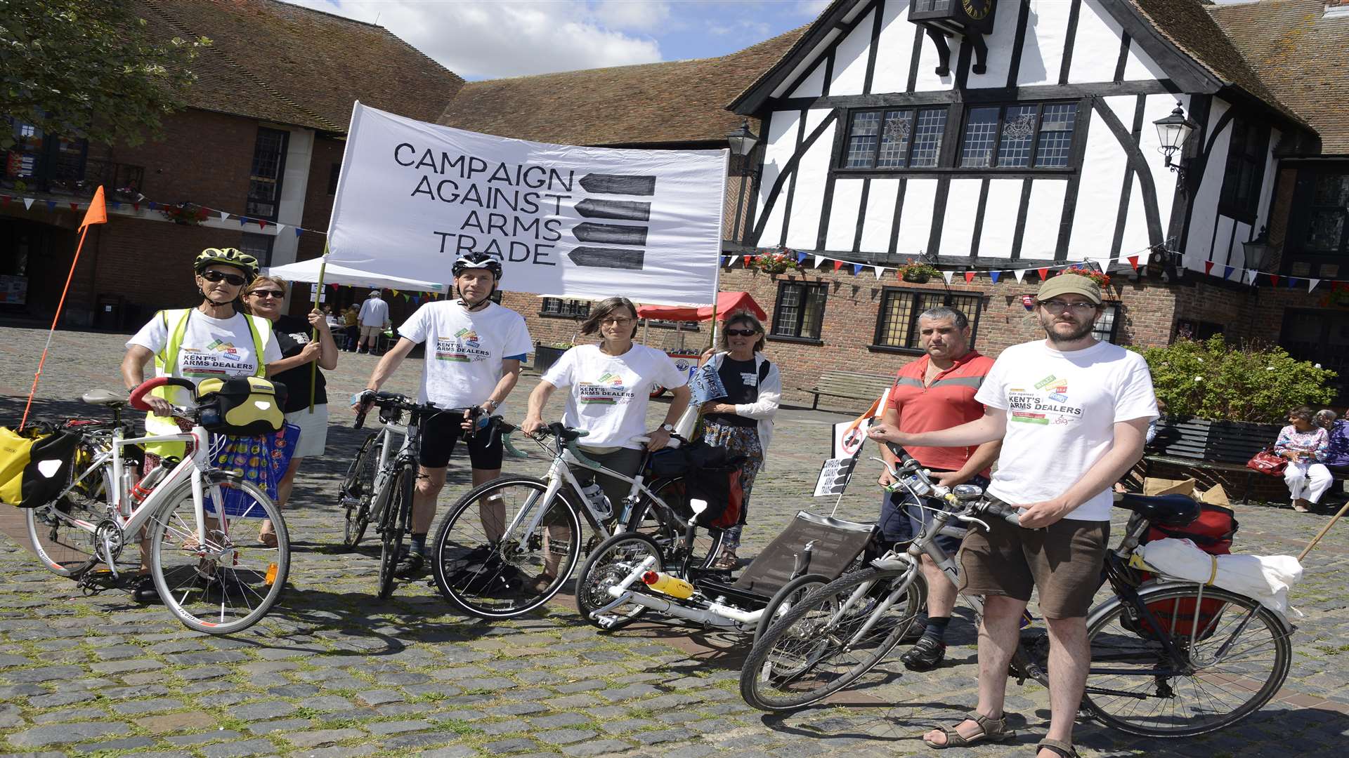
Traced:
<svg viewBox="0 0 1349 758">
<path fill-rule="evenodd" d="M 576 345 L 563 353 L 544 374 L 529 394 L 529 411 L 521 429 L 536 434 L 544 429 L 544 407 L 558 388 L 567 388 L 567 410 L 563 424 L 584 429 L 581 450 L 611 471 L 633 476 L 642 465 L 642 442 L 634 437 L 648 436 L 646 450 L 664 448 L 674 432 L 674 422 L 688 407 L 688 378 L 664 352 L 633 343 L 637 336 L 637 306 L 623 297 L 600 301 L 581 324 L 581 334 L 600 336 L 598 345 Z M 646 406 L 653 384 L 673 392 L 665 422 L 654 432 L 646 432 Z M 591 471 L 575 468 L 583 484 L 591 482 Z M 630 484 L 611 476 L 598 476 L 598 484 L 616 510 L 627 496 Z M 552 584 L 557 577 L 560 557 L 549 553 L 545 573 L 537 581 Z"/>
</svg>

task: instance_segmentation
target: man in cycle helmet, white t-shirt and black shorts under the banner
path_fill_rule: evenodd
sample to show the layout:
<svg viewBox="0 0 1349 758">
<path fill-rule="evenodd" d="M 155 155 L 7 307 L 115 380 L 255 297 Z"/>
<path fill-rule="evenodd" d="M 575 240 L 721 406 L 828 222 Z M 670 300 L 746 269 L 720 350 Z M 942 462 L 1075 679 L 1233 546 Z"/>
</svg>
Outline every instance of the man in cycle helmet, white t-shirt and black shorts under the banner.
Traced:
<svg viewBox="0 0 1349 758">
<path fill-rule="evenodd" d="M 422 343 L 426 357 L 418 402 L 444 409 L 476 407 L 484 414 L 495 414 L 515 388 L 519 364 L 532 343 L 525 318 L 491 301 L 500 282 L 502 264 L 490 255 L 471 252 L 456 260 L 452 271 L 459 299 L 428 302 L 398 328 L 398 344 L 375 366 L 362 402 L 368 402 L 413 347 Z M 422 426 L 410 550 L 399 561 L 401 576 L 415 575 L 425 564 L 426 533 L 436 519 L 436 498 L 445 487 L 445 467 L 460 436 L 465 437 L 473 486 L 500 476 L 502 442 L 496 426 L 472 432 L 473 415 L 478 414 L 440 414 Z"/>
</svg>

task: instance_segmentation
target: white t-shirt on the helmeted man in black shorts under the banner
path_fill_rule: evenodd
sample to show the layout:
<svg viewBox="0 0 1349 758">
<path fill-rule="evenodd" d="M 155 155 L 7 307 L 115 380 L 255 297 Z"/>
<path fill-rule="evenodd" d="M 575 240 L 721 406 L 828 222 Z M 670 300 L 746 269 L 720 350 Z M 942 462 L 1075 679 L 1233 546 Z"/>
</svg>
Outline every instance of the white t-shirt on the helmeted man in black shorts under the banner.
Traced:
<svg viewBox="0 0 1349 758">
<path fill-rule="evenodd" d="M 525 318 L 495 302 L 475 312 L 455 301 L 428 302 L 398 333 L 426 343 L 417 399 L 438 407 L 482 405 L 502 378 L 502 359 L 523 357 L 533 347 Z"/>
</svg>

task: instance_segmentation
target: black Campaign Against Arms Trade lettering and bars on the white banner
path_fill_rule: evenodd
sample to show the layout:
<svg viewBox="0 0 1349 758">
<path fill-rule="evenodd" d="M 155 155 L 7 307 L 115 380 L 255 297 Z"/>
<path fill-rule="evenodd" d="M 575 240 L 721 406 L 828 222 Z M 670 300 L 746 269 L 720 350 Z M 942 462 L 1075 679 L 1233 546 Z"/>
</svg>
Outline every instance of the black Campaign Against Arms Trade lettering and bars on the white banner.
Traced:
<svg viewBox="0 0 1349 758">
<path fill-rule="evenodd" d="M 556 243 L 563 240 L 564 205 L 581 217 L 649 221 L 650 202 L 587 197 L 569 202 L 579 193 L 652 196 L 656 177 L 585 174 L 529 163 L 486 161 L 475 155 L 418 148 L 411 143 L 394 147 L 394 162 L 420 175 L 410 192 L 413 198 L 468 208 L 457 229 L 434 229 L 441 254 L 456 258 L 484 252 L 513 263 L 557 266 Z M 580 190 L 577 190 L 577 185 Z M 568 258 L 577 266 L 642 268 L 648 227 L 583 221 L 571 228 L 577 243 L 626 247 L 575 247 Z"/>
</svg>

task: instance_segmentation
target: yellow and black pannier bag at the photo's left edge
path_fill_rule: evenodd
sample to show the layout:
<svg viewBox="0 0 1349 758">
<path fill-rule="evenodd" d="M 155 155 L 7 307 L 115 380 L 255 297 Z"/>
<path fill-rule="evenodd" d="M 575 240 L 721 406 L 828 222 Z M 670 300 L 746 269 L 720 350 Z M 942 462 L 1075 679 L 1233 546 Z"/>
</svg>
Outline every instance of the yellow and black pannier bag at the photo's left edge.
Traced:
<svg viewBox="0 0 1349 758">
<path fill-rule="evenodd" d="M 80 437 L 50 424 L 15 432 L 0 426 L 0 502 L 38 507 L 70 482 Z"/>
</svg>

